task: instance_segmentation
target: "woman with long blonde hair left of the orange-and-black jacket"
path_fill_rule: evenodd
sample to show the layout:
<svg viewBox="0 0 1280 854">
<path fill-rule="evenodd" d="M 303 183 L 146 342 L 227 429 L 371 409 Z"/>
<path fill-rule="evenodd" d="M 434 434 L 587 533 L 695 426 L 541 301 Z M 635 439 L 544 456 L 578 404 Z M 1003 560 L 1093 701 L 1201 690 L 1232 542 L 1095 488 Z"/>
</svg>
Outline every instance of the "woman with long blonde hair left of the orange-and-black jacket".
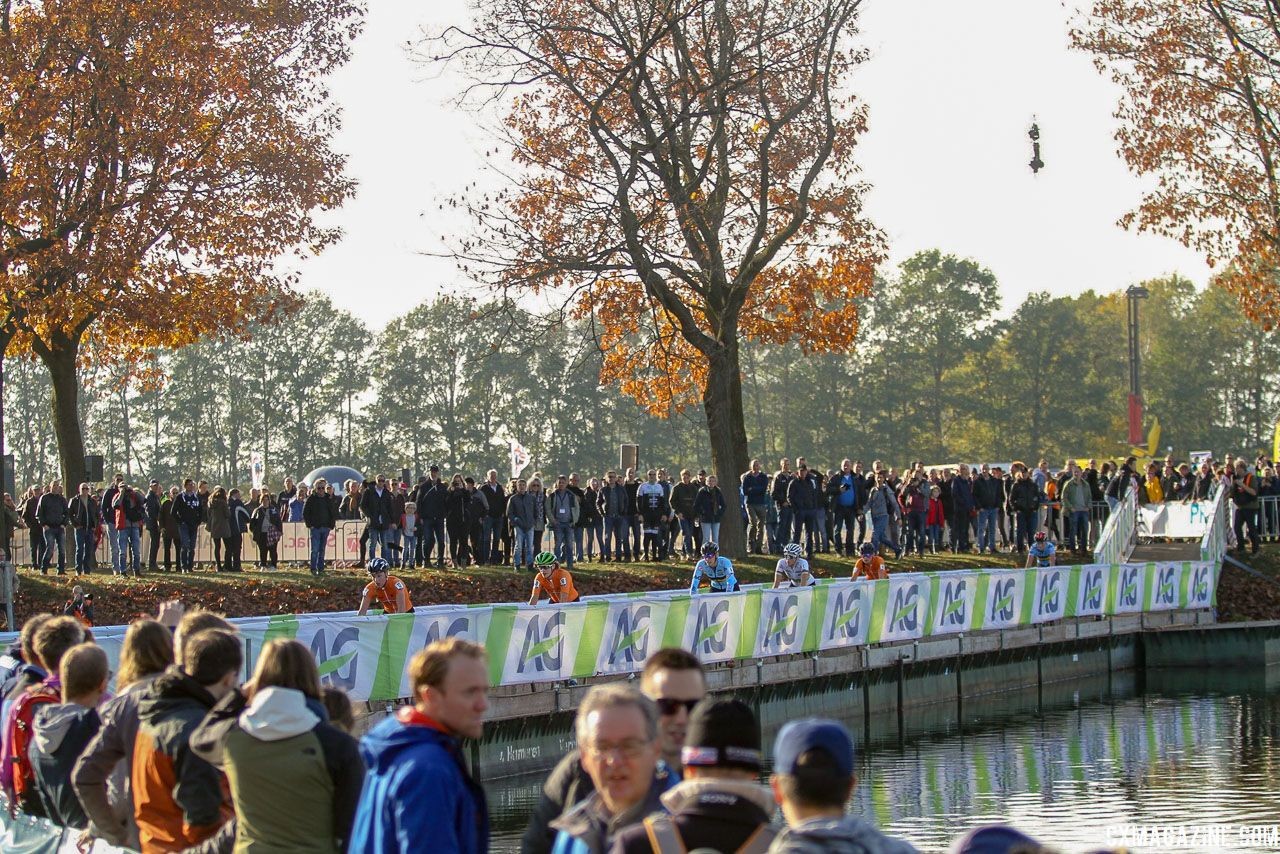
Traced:
<svg viewBox="0 0 1280 854">
<path fill-rule="evenodd" d="M 155 677 L 173 665 L 173 635 L 155 620 L 124 632 L 114 699 L 99 708 L 102 726 L 72 771 L 72 785 L 88 817 L 88 831 L 111 845 L 138 850 L 133 819 L 133 741 L 138 703 Z"/>
</svg>

